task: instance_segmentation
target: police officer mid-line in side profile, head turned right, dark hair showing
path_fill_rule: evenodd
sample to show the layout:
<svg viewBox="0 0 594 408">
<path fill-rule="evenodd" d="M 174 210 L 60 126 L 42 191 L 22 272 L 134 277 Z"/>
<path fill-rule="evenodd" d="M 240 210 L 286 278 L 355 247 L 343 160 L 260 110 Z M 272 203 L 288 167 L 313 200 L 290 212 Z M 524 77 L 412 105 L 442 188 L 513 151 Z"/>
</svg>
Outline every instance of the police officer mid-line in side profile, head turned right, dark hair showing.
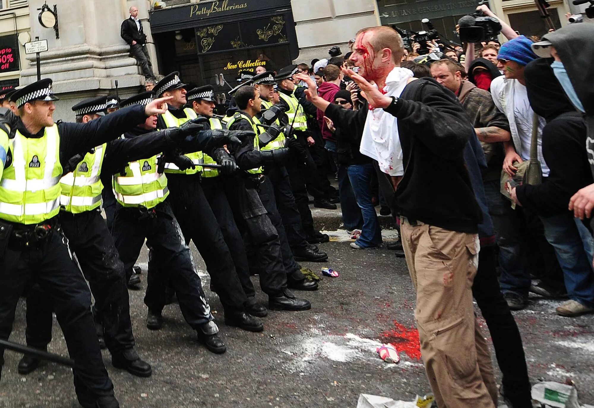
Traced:
<svg viewBox="0 0 594 408">
<path fill-rule="evenodd" d="M 260 135 L 263 128 L 258 126 L 261 123 L 255 117 L 261 110 L 260 94 L 250 85 L 251 82 L 246 82 L 230 92 L 234 94 L 239 111 L 230 117 L 228 126 L 233 130 L 252 129 L 256 135 Z M 237 182 L 244 188 L 228 189 L 229 203 L 233 206 L 236 219 L 242 221 L 247 242 L 254 248 L 255 256 L 252 259 L 257 263 L 260 286 L 268 295 L 268 308 L 308 310 L 311 308 L 309 301 L 296 298 L 287 289 L 288 280 L 304 286 L 305 276 L 293 259 L 283 222 L 274 202 L 272 184 L 263 175 L 262 168 L 263 165 L 282 165 L 289 149 L 260 151 L 259 139 L 254 136 L 242 139 L 241 146 L 233 146 L 230 151 L 242 169 Z"/>
</svg>

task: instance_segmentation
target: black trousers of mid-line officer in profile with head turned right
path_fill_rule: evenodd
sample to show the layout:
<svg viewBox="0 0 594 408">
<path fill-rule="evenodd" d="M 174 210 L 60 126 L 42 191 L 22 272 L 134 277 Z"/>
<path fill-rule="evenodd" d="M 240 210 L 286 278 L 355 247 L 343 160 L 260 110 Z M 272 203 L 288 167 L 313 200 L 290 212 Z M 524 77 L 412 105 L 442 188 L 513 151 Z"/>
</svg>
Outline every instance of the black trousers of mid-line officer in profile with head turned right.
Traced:
<svg viewBox="0 0 594 408">
<path fill-rule="evenodd" d="M 243 177 L 223 178 L 225 195 L 247 247 L 248 264 L 260 275 L 262 291 L 274 296 L 287 287 L 279 234 L 257 191 L 247 188 Z"/>
</svg>

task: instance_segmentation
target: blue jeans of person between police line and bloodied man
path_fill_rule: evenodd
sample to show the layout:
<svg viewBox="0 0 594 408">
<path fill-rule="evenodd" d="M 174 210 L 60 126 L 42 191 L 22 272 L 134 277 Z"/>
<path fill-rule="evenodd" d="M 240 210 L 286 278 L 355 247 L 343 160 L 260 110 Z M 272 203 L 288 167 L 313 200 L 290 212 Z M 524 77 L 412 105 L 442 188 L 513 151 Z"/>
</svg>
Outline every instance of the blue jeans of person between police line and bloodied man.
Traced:
<svg viewBox="0 0 594 408">
<path fill-rule="evenodd" d="M 363 228 L 361 237 L 355 243 L 363 248 L 374 248 L 381 244 L 381 228 L 377 221 L 375 207 L 371 203 L 371 177 L 375 170 L 371 163 L 350 165 L 346 169 L 349 174 L 350 185 L 353 186 L 353 193 L 357 205 L 361 208 L 363 215 Z"/>
</svg>

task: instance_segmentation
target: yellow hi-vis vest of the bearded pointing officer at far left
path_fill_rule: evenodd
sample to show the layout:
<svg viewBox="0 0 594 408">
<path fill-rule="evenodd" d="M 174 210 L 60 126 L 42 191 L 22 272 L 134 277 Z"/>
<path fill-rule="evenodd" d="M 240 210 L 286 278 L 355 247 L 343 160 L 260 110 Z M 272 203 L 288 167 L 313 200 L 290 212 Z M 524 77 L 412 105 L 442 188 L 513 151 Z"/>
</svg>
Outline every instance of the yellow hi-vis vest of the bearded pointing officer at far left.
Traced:
<svg viewBox="0 0 594 408">
<path fill-rule="evenodd" d="M 10 139 L 12 163 L 0 180 L 0 218 L 18 224 L 40 224 L 60 207 L 58 125 L 46 127 L 42 138 L 20 132 Z"/>
</svg>

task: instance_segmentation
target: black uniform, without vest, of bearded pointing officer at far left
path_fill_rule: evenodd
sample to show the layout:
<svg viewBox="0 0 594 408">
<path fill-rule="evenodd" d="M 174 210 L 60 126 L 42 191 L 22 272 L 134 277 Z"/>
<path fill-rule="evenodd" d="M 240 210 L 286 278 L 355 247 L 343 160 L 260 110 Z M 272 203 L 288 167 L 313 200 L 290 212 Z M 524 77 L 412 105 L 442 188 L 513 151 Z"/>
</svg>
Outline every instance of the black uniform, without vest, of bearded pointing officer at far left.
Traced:
<svg viewBox="0 0 594 408">
<path fill-rule="evenodd" d="M 43 85 L 44 81 L 47 80 L 31 84 L 12 97 L 31 92 L 33 87 Z M 145 119 L 144 107 L 130 107 L 86 124 L 59 123 L 59 160 L 62 167 L 78 152 L 108 142 L 113 135 L 121 134 Z M 20 119 L 17 129 L 26 138 L 41 138 L 45 130 L 31 135 Z M 6 253 L 0 257 L 0 338 L 8 339 L 10 336 L 18 297 L 27 281 L 34 279 L 51 299 L 69 355 L 74 360 L 72 372 L 78 401 L 83 407 L 96 407 L 99 401 L 105 399 L 115 401 L 113 384 L 103 364 L 91 315 L 89 287 L 72 262 L 57 219 L 49 219 L 43 225 L 51 227 L 50 233 L 32 242 L 29 235 L 32 226 L 12 224 L 13 234 L 8 238 Z M 19 238 L 18 235 L 24 236 Z M 3 358 L 1 362 L 4 364 Z"/>
</svg>

